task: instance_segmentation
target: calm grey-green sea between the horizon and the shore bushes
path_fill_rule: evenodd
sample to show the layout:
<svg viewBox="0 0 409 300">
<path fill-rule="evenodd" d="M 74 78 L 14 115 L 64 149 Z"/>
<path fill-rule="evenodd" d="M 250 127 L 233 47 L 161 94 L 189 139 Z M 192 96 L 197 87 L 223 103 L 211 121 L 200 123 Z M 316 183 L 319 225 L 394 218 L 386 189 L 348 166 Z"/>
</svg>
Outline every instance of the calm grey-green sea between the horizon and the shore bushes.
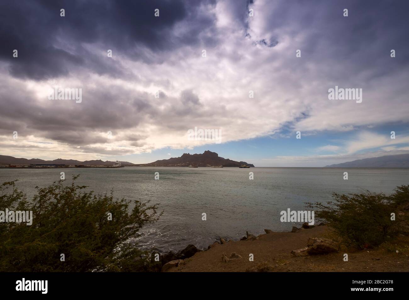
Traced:
<svg viewBox="0 0 409 300">
<path fill-rule="evenodd" d="M 391 193 L 409 184 L 409 169 L 364 168 L 183 168 L 125 167 L 118 169 L 0 169 L 0 182 L 18 179 L 20 190 L 32 196 L 34 187 L 58 181 L 65 172 L 67 184 L 81 174 L 79 185 L 116 198 L 160 202 L 164 215 L 146 226 L 137 240 L 141 247 L 180 250 L 187 244 L 207 246 L 220 236 L 238 240 L 249 231 L 290 231 L 292 223 L 280 222 L 280 211 L 303 210 L 304 202 L 331 200 L 337 193 L 362 189 Z M 249 180 L 249 172 L 254 180 Z M 348 180 L 343 180 L 344 171 Z M 160 180 L 154 173 L 160 173 Z M 202 213 L 207 220 L 202 221 Z"/>
</svg>

